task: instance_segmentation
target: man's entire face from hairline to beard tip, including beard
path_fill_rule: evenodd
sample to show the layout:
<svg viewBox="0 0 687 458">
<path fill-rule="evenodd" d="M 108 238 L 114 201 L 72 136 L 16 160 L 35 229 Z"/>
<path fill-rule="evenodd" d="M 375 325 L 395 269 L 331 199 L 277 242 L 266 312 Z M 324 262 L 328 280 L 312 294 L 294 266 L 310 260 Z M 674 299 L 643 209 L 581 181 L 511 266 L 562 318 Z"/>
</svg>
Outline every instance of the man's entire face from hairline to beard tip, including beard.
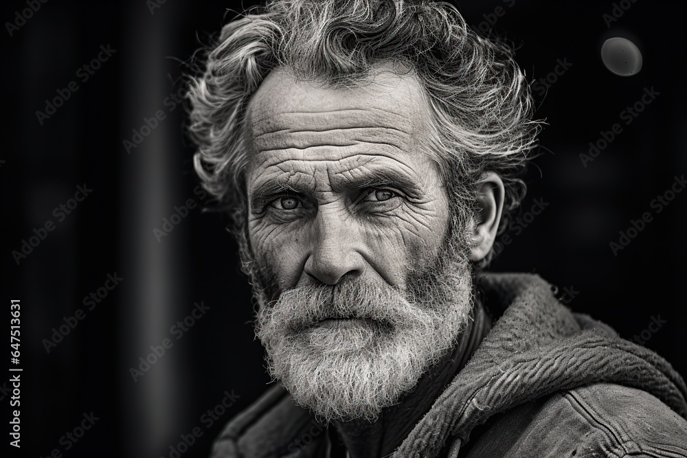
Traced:
<svg viewBox="0 0 687 458">
<path fill-rule="evenodd" d="M 469 251 L 447 233 L 447 192 L 423 151 L 420 87 L 378 70 L 343 89 L 273 71 L 247 117 L 256 332 L 273 376 L 328 419 L 397 402 L 471 304 Z"/>
</svg>

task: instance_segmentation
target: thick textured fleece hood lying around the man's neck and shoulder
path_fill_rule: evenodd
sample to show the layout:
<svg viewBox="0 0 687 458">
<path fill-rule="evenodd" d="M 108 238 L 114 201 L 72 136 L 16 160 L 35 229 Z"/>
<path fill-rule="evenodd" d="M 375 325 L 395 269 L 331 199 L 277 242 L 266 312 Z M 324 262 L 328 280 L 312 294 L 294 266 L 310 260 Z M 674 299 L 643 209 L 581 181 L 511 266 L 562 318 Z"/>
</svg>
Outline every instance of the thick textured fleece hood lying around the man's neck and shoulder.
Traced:
<svg viewBox="0 0 687 458">
<path fill-rule="evenodd" d="M 455 457 L 492 415 L 594 382 L 641 389 L 686 417 L 687 388 L 664 358 L 570 312 L 538 275 L 484 273 L 478 284 L 500 318 L 394 458 L 436 457 L 447 444 Z"/>
</svg>

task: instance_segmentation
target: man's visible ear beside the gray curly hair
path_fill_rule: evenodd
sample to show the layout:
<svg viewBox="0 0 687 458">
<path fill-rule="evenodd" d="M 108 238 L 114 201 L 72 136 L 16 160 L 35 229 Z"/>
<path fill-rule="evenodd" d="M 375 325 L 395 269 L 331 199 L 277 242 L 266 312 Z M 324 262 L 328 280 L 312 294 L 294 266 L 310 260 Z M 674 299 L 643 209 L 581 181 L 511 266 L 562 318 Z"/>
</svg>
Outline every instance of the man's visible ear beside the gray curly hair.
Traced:
<svg viewBox="0 0 687 458">
<path fill-rule="evenodd" d="M 481 261 L 491 250 L 504 209 L 504 182 L 494 172 L 485 172 L 477 182 L 477 213 L 470 260 Z"/>
</svg>

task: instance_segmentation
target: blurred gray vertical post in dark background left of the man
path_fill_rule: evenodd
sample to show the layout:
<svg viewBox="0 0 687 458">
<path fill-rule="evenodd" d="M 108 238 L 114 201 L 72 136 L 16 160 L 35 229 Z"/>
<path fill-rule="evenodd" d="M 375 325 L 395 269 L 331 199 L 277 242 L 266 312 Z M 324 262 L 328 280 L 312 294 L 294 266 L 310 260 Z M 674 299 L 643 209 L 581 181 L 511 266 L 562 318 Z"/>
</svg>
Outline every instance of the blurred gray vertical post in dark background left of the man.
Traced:
<svg viewBox="0 0 687 458">
<path fill-rule="evenodd" d="M 171 8 L 168 8 L 171 10 Z M 170 11 L 168 11 L 170 12 Z M 133 130 L 141 133 L 144 118 L 155 119 L 170 93 L 166 70 L 168 43 L 173 41 L 170 14 L 151 12 L 146 2 L 129 2 L 122 20 L 122 115 L 120 130 L 133 141 Z M 120 295 L 120 363 L 122 373 L 122 431 L 124 455 L 131 458 L 159 456 L 178 437 L 183 400 L 179 383 L 182 358 L 160 357 L 136 381 L 129 367 L 139 369 L 140 357 L 150 354 L 151 345 L 170 337 L 170 325 L 183 317 L 185 291 L 179 266 L 184 253 L 155 238 L 153 229 L 183 200 L 179 191 L 175 154 L 181 146 L 168 135 L 179 124 L 159 121 L 129 152 L 122 146 L 120 233 L 128 288 Z M 143 129 L 147 132 L 147 130 Z M 174 235 L 174 234 L 172 234 Z M 181 246 L 177 244 L 177 246 Z M 130 279 L 130 280 L 129 280 Z M 179 352 L 177 348 L 168 353 Z M 166 355 L 167 356 L 167 355 Z M 179 355 L 177 355 L 179 356 Z M 180 381 L 181 380 L 181 381 Z"/>
</svg>

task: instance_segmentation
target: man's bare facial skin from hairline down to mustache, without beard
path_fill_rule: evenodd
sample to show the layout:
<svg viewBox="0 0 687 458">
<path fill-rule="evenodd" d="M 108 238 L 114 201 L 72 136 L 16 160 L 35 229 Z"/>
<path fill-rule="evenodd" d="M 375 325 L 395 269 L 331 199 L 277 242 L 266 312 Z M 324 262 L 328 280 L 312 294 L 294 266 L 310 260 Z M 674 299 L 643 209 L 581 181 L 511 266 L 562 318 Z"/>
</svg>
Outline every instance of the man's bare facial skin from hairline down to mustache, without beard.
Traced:
<svg viewBox="0 0 687 458">
<path fill-rule="evenodd" d="M 436 164 L 420 148 L 425 102 L 412 78 L 353 89 L 271 74 L 251 101 L 249 238 L 279 288 L 343 275 L 405 288 L 449 220 Z"/>
</svg>

